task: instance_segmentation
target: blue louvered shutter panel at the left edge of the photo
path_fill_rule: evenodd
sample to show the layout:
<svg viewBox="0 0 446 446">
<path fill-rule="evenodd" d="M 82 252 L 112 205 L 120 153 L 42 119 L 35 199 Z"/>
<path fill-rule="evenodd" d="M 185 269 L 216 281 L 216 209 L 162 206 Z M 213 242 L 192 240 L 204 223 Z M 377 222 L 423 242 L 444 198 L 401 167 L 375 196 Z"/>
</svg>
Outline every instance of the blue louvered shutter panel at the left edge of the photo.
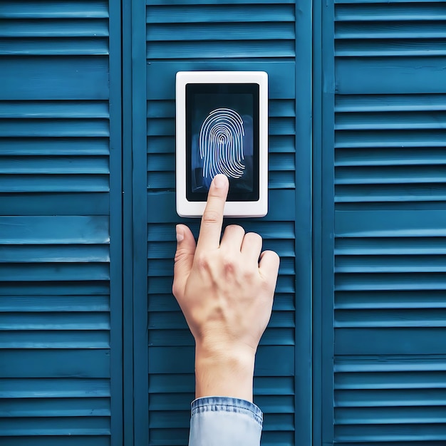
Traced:
<svg viewBox="0 0 446 446">
<path fill-rule="evenodd" d="M 0 1 L 3 446 L 106 446 L 112 430 L 122 445 L 120 410 L 111 410 L 122 373 L 120 314 L 110 316 L 121 242 L 119 227 L 110 232 L 120 222 L 110 203 L 120 200 L 120 105 L 112 118 L 109 100 L 120 83 L 109 12 L 103 0 Z"/>
</svg>

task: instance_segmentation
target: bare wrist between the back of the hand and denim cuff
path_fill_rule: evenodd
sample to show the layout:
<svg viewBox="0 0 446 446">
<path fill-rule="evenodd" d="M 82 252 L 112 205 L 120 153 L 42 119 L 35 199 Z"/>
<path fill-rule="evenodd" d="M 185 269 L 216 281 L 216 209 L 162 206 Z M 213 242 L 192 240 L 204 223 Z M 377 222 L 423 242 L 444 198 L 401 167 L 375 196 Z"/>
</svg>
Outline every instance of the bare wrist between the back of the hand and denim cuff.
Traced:
<svg viewBox="0 0 446 446">
<path fill-rule="evenodd" d="M 251 348 L 195 348 L 195 398 L 227 396 L 252 401 L 255 351 Z"/>
</svg>

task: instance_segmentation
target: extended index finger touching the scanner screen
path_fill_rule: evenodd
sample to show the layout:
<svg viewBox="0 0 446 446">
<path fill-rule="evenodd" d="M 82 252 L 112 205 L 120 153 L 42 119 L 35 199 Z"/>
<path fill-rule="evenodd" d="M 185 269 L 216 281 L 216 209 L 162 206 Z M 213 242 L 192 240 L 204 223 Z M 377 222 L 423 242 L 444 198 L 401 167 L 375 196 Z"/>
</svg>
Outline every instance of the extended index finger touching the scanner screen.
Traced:
<svg viewBox="0 0 446 446">
<path fill-rule="evenodd" d="M 224 203 L 229 190 L 229 180 L 226 175 L 215 175 L 209 187 L 206 208 L 203 212 L 202 224 L 199 228 L 197 251 L 202 249 L 217 249 L 222 234 Z"/>
</svg>

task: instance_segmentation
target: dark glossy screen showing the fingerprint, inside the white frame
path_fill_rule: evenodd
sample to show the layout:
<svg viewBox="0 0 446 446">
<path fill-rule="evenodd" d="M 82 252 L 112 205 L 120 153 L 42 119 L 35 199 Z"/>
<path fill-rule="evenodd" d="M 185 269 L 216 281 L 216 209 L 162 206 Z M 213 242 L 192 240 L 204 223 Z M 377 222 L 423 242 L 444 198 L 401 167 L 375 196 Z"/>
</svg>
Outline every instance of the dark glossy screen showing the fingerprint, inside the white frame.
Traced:
<svg viewBox="0 0 446 446">
<path fill-rule="evenodd" d="M 212 178 L 229 178 L 228 201 L 259 199 L 259 85 L 186 85 L 186 196 L 204 201 Z"/>
</svg>

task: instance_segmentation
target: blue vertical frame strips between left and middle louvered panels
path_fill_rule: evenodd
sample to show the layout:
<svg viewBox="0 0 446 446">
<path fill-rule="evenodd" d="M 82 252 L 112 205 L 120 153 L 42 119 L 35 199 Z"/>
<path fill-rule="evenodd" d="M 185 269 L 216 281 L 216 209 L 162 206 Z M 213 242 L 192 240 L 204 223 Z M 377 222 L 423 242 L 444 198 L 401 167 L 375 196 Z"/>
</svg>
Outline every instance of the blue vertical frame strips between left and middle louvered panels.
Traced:
<svg viewBox="0 0 446 446">
<path fill-rule="evenodd" d="M 148 445 L 146 4 L 123 1 L 124 446 Z M 134 88 L 138 85 L 138 88 Z M 141 243 L 145 240 L 146 243 Z"/>
</svg>

